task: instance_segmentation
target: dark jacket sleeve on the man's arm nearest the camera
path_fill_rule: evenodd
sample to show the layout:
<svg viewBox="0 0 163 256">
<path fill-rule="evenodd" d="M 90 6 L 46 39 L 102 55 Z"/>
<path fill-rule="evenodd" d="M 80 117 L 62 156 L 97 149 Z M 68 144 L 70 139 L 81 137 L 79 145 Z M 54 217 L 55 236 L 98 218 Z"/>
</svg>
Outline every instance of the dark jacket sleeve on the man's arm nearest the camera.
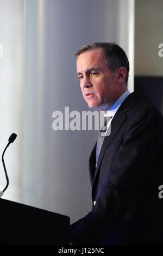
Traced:
<svg viewBox="0 0 163 256">
<path fill-rule="evenodd" d="M 92 211 L 71 225 L 74 245 L 98 244 L 127 215 L 141 193 L 163 141 L 162 117 L 157 111 L 134 115 L 110 170 L 110 179 Z M 107 170 L 106 170 L 107 171 Z"/>
</svg>

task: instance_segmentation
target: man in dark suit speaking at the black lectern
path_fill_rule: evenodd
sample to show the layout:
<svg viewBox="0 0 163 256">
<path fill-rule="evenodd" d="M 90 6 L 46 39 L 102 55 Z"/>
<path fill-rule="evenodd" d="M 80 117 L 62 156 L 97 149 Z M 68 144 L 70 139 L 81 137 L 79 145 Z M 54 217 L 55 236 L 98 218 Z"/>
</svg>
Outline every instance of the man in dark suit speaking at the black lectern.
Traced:
<svg viewBox="0 0 163 256">
<path fill-rule="evenodd" d="M 77 76 L 90 108 L 111 117 L 89 159 L 92 211 L 71 225 L 73 245 L 161 244 L 162 115 L 127 89 L 129 63 L 113 43 L 80 48 Z"/>
</svg>

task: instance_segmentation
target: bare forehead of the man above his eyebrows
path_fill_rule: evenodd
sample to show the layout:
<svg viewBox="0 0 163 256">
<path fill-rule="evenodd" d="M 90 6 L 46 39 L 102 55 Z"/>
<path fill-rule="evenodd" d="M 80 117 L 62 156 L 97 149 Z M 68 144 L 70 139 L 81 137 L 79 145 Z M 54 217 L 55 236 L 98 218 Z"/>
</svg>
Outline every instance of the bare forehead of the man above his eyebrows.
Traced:
<svg viewBox="0 0 163 256">
<path fill-rule="evenodd" d="M 81 53 L 77 58 L 77 70 L 101 66 L 104 64 L 104 53 L 102 48 L 91 49 Z"/>
</svg>

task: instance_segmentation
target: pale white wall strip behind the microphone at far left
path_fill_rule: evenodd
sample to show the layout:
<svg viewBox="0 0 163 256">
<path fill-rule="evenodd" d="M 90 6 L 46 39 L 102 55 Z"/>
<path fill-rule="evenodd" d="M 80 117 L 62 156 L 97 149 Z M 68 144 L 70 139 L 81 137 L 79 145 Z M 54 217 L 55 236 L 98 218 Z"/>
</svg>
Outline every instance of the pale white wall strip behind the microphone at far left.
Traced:
<svg viewBox="0 0 163 256">
<path fill-rule="evenodd" d="M 14 144 L 7 149 L 4 160 L 9 187 L 3 198 L 22 201 L 21 143 L 22 143 L 22 75 L 23 75 L 23 1 L 0 0 L 0 152 L 2 154 L 12 132 L 17 133 Z M 0 189 L 6 185 L 2 162 Z"/>
</svg>

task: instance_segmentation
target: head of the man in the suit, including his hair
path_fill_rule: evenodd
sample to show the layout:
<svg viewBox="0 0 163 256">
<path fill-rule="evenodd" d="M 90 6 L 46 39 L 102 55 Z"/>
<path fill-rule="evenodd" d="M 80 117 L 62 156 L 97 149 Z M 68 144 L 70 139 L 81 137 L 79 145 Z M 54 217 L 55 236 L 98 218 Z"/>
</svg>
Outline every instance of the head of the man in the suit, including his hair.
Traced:
<svg viewBox="0 0 163 256">
<path fill-rule="evenodd" d="M 126 53 L 114 43 L 96 42 L 81 47 L 77 76 L 89 107 L 109 109 L 127 90 L 129 62 Z"/>
</svg>

